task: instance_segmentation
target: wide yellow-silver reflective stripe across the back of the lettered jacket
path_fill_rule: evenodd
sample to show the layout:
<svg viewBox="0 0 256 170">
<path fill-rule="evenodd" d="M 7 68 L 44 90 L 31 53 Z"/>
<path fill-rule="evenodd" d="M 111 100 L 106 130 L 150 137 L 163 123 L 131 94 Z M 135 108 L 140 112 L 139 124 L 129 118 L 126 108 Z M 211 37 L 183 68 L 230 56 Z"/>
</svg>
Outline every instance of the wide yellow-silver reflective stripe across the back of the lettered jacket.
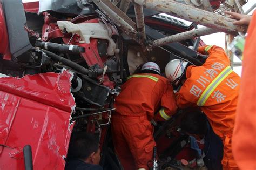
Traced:
<svg viewBox="0 0 256 170">
<path fill-rule="evenodd" d="M 209 84 L 204 90 L 203 94 L 197 101 L 198 106 L 204 106 L 207 99 L 211 96 L 212 92 L 217 88 L 217 86 L 230 74 L 233 70 L 230 66 L 227 66 L 226 69 L 221 71 L 221 73 Z"/>
</svg>

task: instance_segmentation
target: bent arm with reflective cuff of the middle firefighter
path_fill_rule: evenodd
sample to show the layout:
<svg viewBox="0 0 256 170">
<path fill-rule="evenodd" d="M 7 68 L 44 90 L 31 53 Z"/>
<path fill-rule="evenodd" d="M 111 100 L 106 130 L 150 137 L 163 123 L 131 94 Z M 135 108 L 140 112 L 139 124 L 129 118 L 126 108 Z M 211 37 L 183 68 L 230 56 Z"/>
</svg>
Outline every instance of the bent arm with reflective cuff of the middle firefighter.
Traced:
<svg viewBox="0 0 256 170">
<path fill-rule="evenodd" d="M 161 97 L 161 108 L 157 114 L 154 115 L 154 120 L 165 121 L 169 120 L 177 111 L 173 88 L 169 84 L 163 96 Z"/>
</svg>

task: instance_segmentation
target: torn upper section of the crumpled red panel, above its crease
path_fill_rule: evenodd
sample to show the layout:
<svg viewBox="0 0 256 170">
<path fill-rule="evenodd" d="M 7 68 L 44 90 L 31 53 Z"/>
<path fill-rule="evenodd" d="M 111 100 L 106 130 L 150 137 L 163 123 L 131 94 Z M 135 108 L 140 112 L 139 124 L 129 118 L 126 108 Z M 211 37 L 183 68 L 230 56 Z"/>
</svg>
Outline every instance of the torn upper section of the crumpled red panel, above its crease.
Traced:
<svg viewBox="0 0 256 170">
<path fill-rule="evenodd" d="M 70 78 L 68 71 L 29 75 L 21 79 L 1 78 L 0 90 L 71 112 L 75 101 L 70 93 Z"/>
</svg>

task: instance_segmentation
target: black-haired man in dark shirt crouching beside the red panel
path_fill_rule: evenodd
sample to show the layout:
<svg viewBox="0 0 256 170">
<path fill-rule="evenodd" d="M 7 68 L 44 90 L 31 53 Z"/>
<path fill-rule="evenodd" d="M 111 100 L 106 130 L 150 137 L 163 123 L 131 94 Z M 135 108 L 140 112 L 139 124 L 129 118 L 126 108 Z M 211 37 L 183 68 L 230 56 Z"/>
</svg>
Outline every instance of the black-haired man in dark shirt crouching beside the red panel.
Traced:
<svg viewBox="0 0 256 170">
<path fill-rule="evenodd" d="M 65 170 L 103 170 L 98 165 L 100 149 L 97 139 L 91 134 L 74 136 L 70 141 Z"/>
</svg>

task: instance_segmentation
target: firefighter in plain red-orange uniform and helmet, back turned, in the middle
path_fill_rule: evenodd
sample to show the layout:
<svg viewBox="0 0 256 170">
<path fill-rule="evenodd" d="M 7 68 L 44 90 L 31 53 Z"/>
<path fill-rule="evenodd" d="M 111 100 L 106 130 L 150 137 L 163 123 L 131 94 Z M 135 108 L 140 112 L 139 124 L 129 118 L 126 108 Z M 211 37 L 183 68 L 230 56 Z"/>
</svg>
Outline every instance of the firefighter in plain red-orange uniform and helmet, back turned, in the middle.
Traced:
<svg viewBox="0 0 256 170">
<path fill-rule="evenodd" d="M 112 137 L 122 166 L 125 170 L 148 169 L 156 146 L 151 120 L 168 120 L 177 110 L 172 85 L 160 76 L 156 63 L 147 62 L 140 74 L 127 78 L 114 105 Z"/>
</svg>

